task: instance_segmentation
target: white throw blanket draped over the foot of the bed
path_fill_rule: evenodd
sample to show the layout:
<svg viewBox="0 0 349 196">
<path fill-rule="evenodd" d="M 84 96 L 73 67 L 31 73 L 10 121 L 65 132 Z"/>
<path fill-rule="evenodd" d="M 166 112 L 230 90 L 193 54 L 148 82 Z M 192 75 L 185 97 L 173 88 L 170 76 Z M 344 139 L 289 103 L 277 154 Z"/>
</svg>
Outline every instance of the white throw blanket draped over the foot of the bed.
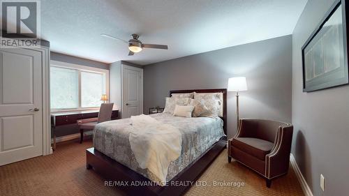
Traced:
<svg viewBox="0 0 349 196">
<path fill-rule="evenodd" d="M 142 169 L 149 169 L 165 185 L 168 167 L 181 154 L 178 128 L 161 123 L 151 116 L 131 116 L 131 150 Z"/>
</svg>

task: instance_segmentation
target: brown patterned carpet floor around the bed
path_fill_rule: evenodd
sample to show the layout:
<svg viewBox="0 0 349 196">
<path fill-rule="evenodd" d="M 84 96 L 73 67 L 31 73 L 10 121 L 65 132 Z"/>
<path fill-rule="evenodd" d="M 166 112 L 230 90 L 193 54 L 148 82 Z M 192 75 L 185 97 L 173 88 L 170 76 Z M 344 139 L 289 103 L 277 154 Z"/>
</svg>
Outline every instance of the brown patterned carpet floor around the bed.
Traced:
<svg viewBox="0 0 349 196">
<path fill-rule="evenodd" d="M 57 151 L 50 156 L 41 156 L 0 167 L 0 195 L 126 195 L 117 188 L 104 186 L 104 180 L 85 166 L 85 149 L 91 141 L 57 144 Z M 186 195 L 304 195 L 295 172 L 265 187 L 265 180 L 250 169 L 232 161 L 228 163 L 223 151 L 198 180 L 205 185 L 193 186 Z M 244 186 L 217 182 L 244 183 Z"/>
</svg>

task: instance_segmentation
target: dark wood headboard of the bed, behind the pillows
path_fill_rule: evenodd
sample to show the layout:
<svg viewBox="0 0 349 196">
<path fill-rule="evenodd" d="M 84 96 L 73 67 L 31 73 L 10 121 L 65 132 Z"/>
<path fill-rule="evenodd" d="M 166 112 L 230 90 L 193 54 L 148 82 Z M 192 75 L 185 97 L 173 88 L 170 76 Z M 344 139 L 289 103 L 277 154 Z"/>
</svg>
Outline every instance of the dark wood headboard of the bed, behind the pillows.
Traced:
<svg viewBox="0 0 349 196">
<path fill-rule="evenodd" d="M 227 135 L 227 89 L 195 89 L 195 90 L 173 90 L 170 91 L 170 96 L 172 93 L 223 93 L 223 130 L 225 135 Z"/>
</svg>

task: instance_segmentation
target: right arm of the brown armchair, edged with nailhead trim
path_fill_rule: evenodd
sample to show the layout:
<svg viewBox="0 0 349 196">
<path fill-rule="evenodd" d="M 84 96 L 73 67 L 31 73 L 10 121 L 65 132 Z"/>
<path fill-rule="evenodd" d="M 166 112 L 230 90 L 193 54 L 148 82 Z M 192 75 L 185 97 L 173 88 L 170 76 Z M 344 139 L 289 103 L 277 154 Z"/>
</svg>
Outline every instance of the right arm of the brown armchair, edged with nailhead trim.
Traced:
<svg viewBox="0 0 349 196">
<path fill-rule="evenodd" d="M 280 126 L 272 151 L 265 156 L 265 176 L 272 179 L 288 172 L 293 126 Z"/>
</svg>

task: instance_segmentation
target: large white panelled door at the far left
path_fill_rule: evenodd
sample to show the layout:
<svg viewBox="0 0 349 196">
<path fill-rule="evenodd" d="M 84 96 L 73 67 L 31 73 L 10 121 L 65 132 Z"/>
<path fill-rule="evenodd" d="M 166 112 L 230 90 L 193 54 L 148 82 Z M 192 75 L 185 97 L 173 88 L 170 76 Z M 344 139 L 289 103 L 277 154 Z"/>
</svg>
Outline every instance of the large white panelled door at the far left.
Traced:
<svg viewBox="0 0 349 196">
<path fill-rule="evenodd" d="M 43 155 L 41 52 L 0 50 L 0 165 Z"/>
</svg>

